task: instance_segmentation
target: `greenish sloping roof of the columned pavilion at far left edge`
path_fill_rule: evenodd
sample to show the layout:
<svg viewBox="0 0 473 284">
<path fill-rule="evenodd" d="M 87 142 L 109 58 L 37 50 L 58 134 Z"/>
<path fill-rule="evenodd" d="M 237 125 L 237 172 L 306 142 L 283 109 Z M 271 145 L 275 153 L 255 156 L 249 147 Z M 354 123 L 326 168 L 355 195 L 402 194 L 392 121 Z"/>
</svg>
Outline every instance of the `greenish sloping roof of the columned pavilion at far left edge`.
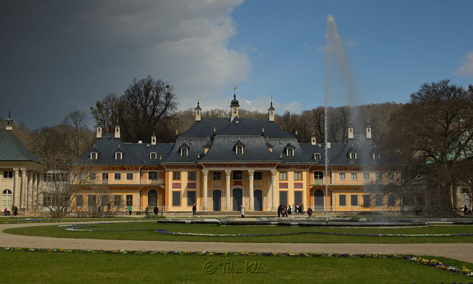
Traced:
<svg viewBox="0 0 473 284">
<path fill-rule="evenodd" d="M 0 161 L 32 161 L 42 163 L 16 138 L 11 130 L 0 130 Z"/>
</svg>

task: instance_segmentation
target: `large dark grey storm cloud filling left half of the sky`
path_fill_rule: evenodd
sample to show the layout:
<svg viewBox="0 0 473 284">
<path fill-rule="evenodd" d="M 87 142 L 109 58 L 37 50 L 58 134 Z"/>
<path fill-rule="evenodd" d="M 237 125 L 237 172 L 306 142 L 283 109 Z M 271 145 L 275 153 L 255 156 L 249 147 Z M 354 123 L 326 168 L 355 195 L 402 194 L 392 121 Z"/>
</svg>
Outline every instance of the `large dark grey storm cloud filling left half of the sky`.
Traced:
<svg viewBox="0 0 473 284">
<path fill-rule="evenodd" d="M 0 117 L 11 108 L 29 127 L 53 125 L 147 74 L 175 86 L 180 108 L 210 102 L 249 72 L 228 49 L 240 3 L 1 1 Z"/>
</svg>

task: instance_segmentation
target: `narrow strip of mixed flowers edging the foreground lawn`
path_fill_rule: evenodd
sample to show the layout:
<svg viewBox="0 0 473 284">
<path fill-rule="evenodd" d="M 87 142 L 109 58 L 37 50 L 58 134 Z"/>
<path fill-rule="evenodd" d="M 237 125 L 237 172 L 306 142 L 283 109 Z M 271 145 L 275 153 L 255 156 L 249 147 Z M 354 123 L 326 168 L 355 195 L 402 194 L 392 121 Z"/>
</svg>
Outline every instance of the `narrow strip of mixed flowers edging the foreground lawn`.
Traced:
<svg viewBox="0 0 473 284">
<path fill-rule="evenodd" d="M 234 255 L 234 256 L 276 256 L 276 257 L 331 257 L 331 258 L 379 258 L 403 259 L 421 265 L 430 266 L 444 271 L 473 277 L 473 271 L 463 266 L 448 265 L 436 259 L 403 254 L 348 254 L 348 253 L 290 253 L 290 252 L 209 252 L 209 251 L 153 251 L 153 250 L 97 250 L 97 249 L 34 249 L 34 248 L 0 248 L 0 251 L 32 251 L 32 252 L 66 252 L 66 253 L 112 253 L 112 254 L 181 254 L 181 255 Z"/>
</svg>

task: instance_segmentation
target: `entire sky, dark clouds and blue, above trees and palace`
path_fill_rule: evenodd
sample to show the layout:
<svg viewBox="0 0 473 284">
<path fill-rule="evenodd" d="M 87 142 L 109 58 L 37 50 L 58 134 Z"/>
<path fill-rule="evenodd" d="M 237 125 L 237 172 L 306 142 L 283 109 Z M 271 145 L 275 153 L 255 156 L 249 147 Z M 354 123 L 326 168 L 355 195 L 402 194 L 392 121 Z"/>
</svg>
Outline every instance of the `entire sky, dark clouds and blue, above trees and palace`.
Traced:
<svg viewBox="0 0 473 284">
<path fill-rule="evenodd" d="M 148 74 L 179 110 L 198 97 L 228 109 L 234 85 L 245 109 L 323 106 L 329 14 L 355 102 L 406 103 L 425 82 L 473 84 L 472 12 L 469 0 L 2 0 L 0 117 L 55 125 Z"/>
</svg>

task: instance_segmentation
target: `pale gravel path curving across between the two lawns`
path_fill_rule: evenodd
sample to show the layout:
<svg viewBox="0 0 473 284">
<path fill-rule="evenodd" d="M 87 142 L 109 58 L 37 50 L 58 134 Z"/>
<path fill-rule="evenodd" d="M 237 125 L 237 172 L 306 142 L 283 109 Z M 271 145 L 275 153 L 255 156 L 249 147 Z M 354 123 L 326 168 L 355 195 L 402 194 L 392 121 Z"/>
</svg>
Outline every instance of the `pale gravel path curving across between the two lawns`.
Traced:
<svg viewBox="0 0 473 284">
<path fill-rule="evenodd" d="M 40 249 L 126 249 L 126 250 L 186 250 L 214 252 L 320 252 L 320 253 L 378 253 L 444 256 L 473 263 L 473 244 L 288 244 L 288 243 L 203 243 L 70 239 L 20 236 L 3 233 L 4 229 L 51 226 L 68 223 L 0 224 L 1 247 Z"/>
</svg>

